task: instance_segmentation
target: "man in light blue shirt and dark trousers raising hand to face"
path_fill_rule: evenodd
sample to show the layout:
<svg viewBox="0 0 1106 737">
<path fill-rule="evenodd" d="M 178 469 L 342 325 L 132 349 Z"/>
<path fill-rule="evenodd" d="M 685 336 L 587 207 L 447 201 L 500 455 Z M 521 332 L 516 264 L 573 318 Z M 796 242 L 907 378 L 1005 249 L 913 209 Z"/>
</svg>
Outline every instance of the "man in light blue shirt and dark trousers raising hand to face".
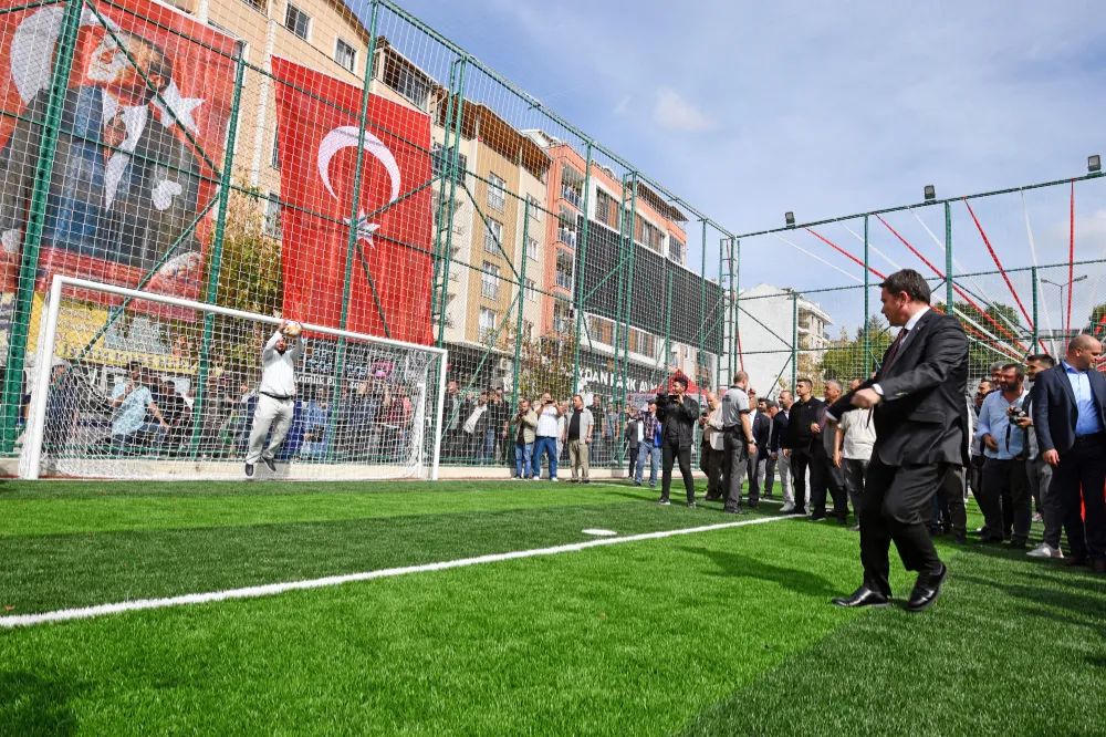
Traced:
<svg viewBox="0 0 1106 737">
<path fill-rule="evenodd" d="M 1033 520 L 1033 496 L 1025 468 L 1029 430 L 1011 422 L 1023 414 L 1027 392 L 1022 384 L 1021 364 L 1002 367 L 1001 391 L 983 399 L 975 439 L 983 440 L 983 484 L 977 495 L 987 530 L 984 542 L 1010 540 L 1010 547 L 1025 548 Z"/>
</svg>

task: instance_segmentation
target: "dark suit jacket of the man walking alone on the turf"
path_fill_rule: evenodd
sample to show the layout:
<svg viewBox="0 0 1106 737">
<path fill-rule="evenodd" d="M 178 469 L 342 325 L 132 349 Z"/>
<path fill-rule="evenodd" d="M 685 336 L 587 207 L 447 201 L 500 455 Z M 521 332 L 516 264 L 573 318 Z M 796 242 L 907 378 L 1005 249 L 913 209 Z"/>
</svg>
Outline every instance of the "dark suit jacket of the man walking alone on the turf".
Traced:
<svg viewBox="0 0 1106 737">
<path fill-rule="evenodd" d="M 968 465 L 968 335 L 956 318 L 936 310 L 924 314 L 895 360 L 888 364 L 885 353 L 879 375 L 860 388 L 873 384 L 884 393 L 872 414 L 873 457 L 887 466 Z M 855 409 L 853 394 L 835 402 L 830 414 L 841 418 Z"/>
</svg>

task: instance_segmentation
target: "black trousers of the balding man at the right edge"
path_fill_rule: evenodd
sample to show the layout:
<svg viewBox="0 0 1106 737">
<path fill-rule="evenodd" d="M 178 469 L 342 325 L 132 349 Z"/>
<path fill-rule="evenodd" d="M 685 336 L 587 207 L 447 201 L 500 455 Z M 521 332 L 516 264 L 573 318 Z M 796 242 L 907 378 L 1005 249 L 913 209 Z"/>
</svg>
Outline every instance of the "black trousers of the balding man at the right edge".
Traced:
<svg viewBox="0 0 1106 737">
<path fill-rule="evenodd" d="M 1106 560 L 1106 433 L 1075 439 L 1053 471 L 1067 544 L 1072 556 Z M 1081 504 L 1082 502 L 1082 504 Z M 1081 507 L 1086 508 L 1085 517 Z"/>
</svg>

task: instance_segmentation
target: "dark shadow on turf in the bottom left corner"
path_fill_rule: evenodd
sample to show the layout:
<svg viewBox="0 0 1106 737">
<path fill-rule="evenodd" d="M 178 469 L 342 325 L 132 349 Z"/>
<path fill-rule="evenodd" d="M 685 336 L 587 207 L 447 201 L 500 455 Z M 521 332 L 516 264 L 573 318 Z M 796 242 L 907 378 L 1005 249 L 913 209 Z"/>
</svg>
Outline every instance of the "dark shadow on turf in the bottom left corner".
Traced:
<svg viewBox="0 0 1106 737">
<path fill-rule="evenodd" d="M 0 735 L 74 734 L 79 725 L 69 704 L 79 691 L 61 678 L 0 673 Z"/>
</svg>

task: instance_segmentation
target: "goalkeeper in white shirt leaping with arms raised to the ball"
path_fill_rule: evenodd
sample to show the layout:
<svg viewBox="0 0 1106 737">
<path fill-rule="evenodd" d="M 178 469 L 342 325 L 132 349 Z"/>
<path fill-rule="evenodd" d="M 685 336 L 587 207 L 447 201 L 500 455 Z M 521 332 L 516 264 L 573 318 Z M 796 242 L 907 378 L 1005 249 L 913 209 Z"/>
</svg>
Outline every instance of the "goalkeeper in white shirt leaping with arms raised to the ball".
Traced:
<svg viewBox="0 0 1106 737">
<path fill-rule="evenodd" d="M 295 362 L 303 354 L 302 330 L 300 323 L 283 320 L 261 350 L 261 387 L 258 390 L 258 408 L 253 413 L 250 448 L 246 454 L 248 478 L 253 477 L 253 466 L 259 459 L 269 466 L 269 470 L 276 470 L 273 457 L 284 442 L 295 411 Z M 273 436 L 265 447 L 270 427 Z"/>
</svg>

